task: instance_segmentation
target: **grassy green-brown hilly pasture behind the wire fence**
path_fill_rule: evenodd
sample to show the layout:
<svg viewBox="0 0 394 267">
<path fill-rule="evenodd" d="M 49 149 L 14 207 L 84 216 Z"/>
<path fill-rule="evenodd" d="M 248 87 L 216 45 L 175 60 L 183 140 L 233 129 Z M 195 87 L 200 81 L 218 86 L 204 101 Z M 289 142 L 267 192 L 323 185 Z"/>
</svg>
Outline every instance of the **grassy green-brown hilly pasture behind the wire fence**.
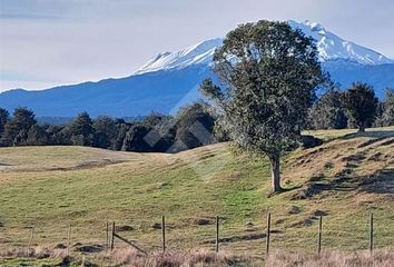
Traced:
<svg viewBox="0 0 394 267">
<path fill-rule="evenodd" d="M 314 253 L 321 215 L 324 248 L 366 249 L 371 212 L 375 247 L 391 247 L 394 128 L 353 132 L 308 132 L 325 144 L 284 157 L 287 191 L 274 196 L 268 161 L 235 155 L 228 144 L 176 155 L 0 148 L 0 248 L 27 247 L 32 226 L 33 245 L 66 244 L 70 224 L 72 244 L 102 245 L 106 222 L 116 221 L 132 227 L 122 236 L 155 251 L 160 248 L 155 224 L 165 215 L 168 249 L 213 249 L 219 216 L 220 249 L 258 260 L 268 211 L 276 249 Z"/>
</svg>

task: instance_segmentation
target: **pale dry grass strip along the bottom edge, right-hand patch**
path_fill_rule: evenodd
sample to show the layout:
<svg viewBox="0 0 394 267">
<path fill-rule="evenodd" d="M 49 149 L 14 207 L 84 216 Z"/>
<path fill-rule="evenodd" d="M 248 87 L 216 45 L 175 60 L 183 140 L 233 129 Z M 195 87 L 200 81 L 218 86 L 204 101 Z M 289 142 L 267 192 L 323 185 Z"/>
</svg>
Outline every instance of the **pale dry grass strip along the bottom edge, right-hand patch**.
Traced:
<svg viewBox="0 0 394 267">
<path fill-rule="evenodd" d="M 325 251 L 321 257 L 299 253 L 275 251 L 267 266 L 272 267 L 392 267 L 394 251 L 378 250 L 371 256 L 370 251 L 341 253 Z"/>
</svg>

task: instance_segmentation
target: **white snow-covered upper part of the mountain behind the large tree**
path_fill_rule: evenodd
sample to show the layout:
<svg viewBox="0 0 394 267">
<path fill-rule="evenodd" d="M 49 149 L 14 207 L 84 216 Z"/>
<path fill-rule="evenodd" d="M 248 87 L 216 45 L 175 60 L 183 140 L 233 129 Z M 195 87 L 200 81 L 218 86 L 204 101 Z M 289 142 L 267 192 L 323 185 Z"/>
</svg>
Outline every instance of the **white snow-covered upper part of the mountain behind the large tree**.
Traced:
<svg viewBox="0 0 394 267">
<path fill-rule="evenodd" d="M 394 63 L 394 60 L 386 58 L 382 53 L 327 31 L 323 26 L 308 20 L 296 22 L 287 21 L 293 29 L 301 29 L 305 34 L 316 40 L 321 61 L 346 60 L 359 65 L 383 65 Z M 215 49 L 221 46 L 223 38 L 199 42 L 177 52 L 164 52 L 150 59 L 146 65 L 136 71 L 145 73 L 168 69 L 181 69 L 193 65 L 209 65 L 213 60 Z"/>
</svg>

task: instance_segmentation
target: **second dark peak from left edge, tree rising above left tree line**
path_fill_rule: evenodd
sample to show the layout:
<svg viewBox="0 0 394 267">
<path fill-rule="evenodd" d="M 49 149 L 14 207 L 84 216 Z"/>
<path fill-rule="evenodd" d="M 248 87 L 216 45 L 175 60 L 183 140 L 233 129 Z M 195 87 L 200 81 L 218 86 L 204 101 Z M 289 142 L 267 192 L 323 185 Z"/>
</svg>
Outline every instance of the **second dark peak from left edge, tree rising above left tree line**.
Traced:
<svg viewBox="0 0 394 267">
<path fill-rule="evenodd" d="M 71 144 L 76 146 L 91 146 L 93 139 L 92 121 L 88 112 L 81 112 L 68 126 Z"/>
</svg>

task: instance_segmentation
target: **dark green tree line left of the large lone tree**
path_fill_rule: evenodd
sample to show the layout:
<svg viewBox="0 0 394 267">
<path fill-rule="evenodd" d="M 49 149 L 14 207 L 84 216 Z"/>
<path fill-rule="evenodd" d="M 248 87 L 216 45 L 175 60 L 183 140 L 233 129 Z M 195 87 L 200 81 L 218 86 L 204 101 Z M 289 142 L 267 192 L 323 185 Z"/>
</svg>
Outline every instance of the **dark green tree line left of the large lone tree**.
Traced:
<svg viewBox="0 0 394 267">
<path fill-rule="evenodd" d="M 88 146 L 137 152 L 177 152 L 215 142 L 215 120 L 207 105 L 196 102 L 176 116 L 151 113 L 127 122 L 107 116 L 90 118 L 81 112 L 61 126 L 38 123 L 33 111 L 0 108 L 0 146 Z M 199 132 L 203 131 L 203 132 Z"/>
</svg>

